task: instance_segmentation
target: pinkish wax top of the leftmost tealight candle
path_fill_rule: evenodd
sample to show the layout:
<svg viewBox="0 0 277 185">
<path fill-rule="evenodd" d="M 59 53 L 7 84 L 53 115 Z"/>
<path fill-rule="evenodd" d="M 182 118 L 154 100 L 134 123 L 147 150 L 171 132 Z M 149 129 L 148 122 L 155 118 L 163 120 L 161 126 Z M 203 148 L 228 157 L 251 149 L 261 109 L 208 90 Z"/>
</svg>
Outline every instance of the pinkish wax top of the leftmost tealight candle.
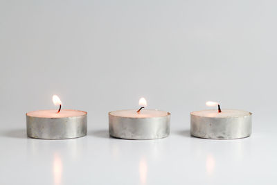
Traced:
<svg viewBox="0 0 277 185">
<path fill-rule="evenodd" d="M 73 116 L 83 116 L 87 112 L 80 110 L 62 109 L 57 113 L 57 109 L 50 110 L 36 110 L 27 113 L 27 116 L 39 117 L 39 118 L 66 118 Z"/>
</svg>

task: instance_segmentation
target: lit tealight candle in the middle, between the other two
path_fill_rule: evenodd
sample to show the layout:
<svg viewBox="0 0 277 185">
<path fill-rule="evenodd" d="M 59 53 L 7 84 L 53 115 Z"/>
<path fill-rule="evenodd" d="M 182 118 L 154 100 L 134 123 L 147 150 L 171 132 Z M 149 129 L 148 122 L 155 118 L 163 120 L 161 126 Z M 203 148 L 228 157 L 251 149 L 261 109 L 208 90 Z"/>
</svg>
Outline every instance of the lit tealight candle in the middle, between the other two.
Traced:
<svg viewBox="0 0 277 185">
<path fill-rule="evenodd" d="M 170 113 L 157 109 L 144 109 L 145 98 L 139 100 L 142 107 L 109 112 L 109 134 L 120 139 L 160 139 L 170 133 Z"/>
</svg>

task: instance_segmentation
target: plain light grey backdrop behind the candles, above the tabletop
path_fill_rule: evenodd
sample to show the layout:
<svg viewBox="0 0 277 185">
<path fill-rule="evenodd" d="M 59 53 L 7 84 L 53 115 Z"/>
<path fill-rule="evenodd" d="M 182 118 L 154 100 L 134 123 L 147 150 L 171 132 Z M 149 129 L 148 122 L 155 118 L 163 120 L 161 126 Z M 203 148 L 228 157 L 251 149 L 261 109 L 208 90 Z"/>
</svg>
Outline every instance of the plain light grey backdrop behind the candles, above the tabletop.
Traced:
<svg viewBox="0 0 277 185">
<path fill-rule="evenodd" d="M 106 132 L 109 111 L 138 108 L 143 96 L 149 108 L 172 113 L 177 132 L 189 130 L 189 113 L 213 100 L 253 112 L 256 136 L 273 136 L 276 7 L 245 0 L 0 0 L 0 129 L 5 136 L 21 129 L 21 136 L 24 114 L 57 108 L 57 94 L 63 108 L 89 112 L 89 133 Z"/>
</svg>

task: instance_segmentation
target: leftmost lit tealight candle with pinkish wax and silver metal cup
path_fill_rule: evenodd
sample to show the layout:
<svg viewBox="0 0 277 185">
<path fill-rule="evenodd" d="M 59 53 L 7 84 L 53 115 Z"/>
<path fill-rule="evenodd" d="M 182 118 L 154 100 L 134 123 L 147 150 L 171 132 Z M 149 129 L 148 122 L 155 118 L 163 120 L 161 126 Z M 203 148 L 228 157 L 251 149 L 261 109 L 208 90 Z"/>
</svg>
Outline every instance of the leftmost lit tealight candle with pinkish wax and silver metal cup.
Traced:
<svg viewBox="0 0 277 185">
<path fill-rule="evenodd" d="M 87 135 L 87 112 L 62 109 L 56 95 L 53 103 L 58 110 L 37 110 L 26 114 L 27 136 L 36 139 L 71 139 Z"/>
</svg>

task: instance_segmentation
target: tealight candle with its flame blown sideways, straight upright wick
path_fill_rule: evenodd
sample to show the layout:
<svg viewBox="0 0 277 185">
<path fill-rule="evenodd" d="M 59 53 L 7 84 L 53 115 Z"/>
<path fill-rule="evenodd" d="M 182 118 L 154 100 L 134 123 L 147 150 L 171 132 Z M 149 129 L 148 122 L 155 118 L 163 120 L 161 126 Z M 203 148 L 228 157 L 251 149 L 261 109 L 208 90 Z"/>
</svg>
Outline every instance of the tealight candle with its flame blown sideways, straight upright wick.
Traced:
<svg viewBox="0 0 277 185">
<path fill-rule="evenodd" d="M 251 112 L 221 109 L 219 103 L 207 102 L 208 109 L 190 113 L 190 134 L 206 139 L 240 139 L 251 135 Z"/>
</svg>

